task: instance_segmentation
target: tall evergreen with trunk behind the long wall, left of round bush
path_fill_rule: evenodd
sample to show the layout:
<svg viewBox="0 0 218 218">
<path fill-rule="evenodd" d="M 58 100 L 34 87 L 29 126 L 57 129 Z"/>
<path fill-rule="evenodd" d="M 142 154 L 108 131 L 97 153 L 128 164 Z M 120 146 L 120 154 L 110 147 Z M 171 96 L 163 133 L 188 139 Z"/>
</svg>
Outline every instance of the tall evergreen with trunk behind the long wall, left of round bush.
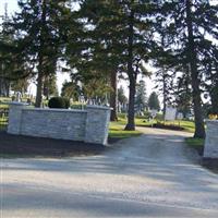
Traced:
<svg viewBox="0 0 218 218">
<path fill-rule="evenodd" d="M 20 53 L 37 76 L 36 107 L 40 107 L 45 76 L 50 74 L 61 57 L 65 15 L 70 9 L 66 0 L 19 0 L 21 12 L 13 17 Z M 56 73 L 56 70 L 52 72 Z"/>
</svg>

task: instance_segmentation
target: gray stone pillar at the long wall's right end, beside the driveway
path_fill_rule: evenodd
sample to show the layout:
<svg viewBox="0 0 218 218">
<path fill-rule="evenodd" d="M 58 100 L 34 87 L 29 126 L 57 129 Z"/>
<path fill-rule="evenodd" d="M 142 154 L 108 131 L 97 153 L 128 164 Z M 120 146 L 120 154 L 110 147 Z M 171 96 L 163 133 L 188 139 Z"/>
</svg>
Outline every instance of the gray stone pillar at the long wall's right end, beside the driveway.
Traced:
<svg viewBox="0 0 218 218">
<path fill-rule="evenodd" d="M 110 123 L 109 107 L 87 106 L 85 142 L 107 145 Z"/>
</svg>

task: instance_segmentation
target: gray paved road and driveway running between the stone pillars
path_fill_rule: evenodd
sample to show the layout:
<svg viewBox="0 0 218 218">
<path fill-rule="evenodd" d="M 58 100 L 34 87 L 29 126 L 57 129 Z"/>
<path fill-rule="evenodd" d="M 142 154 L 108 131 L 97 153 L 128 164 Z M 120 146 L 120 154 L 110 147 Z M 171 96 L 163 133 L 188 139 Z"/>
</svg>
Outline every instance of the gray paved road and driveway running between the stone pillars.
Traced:
<svg viewBox="0 0 218 218">
<path fill-rule="evenodd" d="M 189 134 L 141 130 L 102 156 L 2 159 L 1 218 L 218 217 L 218 175 Z"/>
</svg>

